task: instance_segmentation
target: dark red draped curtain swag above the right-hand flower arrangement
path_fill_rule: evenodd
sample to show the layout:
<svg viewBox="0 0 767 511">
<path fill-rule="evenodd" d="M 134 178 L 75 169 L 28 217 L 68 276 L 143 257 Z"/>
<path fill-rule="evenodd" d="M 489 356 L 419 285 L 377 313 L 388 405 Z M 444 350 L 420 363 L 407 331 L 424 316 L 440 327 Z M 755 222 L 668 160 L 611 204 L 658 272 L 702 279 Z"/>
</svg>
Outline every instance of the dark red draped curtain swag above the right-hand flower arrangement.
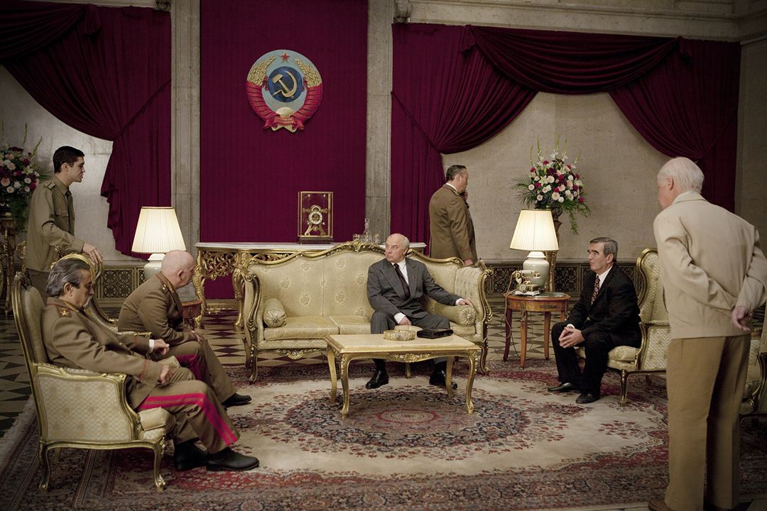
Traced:
<svg viewBox="0 0 767 511">
<path fill-rule="evenodd" d="M 456 47 L 459 38 L 461 44 Z M 457 89 L 471 77 L 446 77 L 435 67 L 439 63 L 444 69 L 459 68 L 472 59 L 477 59 L 477 68 L 490 66 L 501 74 L 499 80 L 508 82 L 505 87 L 513 87 L 510 90 L 515 95 L 504 100 L 517 107 L 505 112 L 508 116 L 504 112 L 482 116 L 478 111 L 463 124 L 464 133 L 479 130 L 484 137 L 479 137 L 481 141 L 493 136 L 538 90 L 570 94 L 609 91 L 630 123 L 659 151 L 699 162 L 706 174 L 706 198 L 729 209 L 734 205 L 738 44 L 414 24 L 393 25 L 393 46 L 393 97 L 403 97 L 411 84 L 437 84 L 410 92 L 408 100 L 395 101 L 393 107 L 393 230 L 428 240 L 429 197 L 444 179 L 441 157 L 434 155 L 436 144 L 423 142 L 433 139 L 436 126 L 419 116 L 404 115 L 403 110 L 417 107 L 436 111 L 431 116 L 437 117 L 460 111 L 464 105 L 456 103 L 461 98 L 455 90 L 434 90 L 437 86 Z M 410 54 L 413 47 L 419 48 L 419 57 L 425 52 L 425 58 L 414 59 Z M 476 52 L 482 59 L 473 54 Z M 503 85 L 486 81 L 473 86 L 472 101 L 481 98 L 498 110 L 505 108 L 493 92 Z M 423 136 L 409 136 L 410 132 Z M 438 151 L 463 151 L 480 142 L 465 146 L 443 143 Z M 422 190 L 422 182 L 429 183 L 431 190 Z M 412 193 L 408 183 L 416 183 Z"/>
</svg>

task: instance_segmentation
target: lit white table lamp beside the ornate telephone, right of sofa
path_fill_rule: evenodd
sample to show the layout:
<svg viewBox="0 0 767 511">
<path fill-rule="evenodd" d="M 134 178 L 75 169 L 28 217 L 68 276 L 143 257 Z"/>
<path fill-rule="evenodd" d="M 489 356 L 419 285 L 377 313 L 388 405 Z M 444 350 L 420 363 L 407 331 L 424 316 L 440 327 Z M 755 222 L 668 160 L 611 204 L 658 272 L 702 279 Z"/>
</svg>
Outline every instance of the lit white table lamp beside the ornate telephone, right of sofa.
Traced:
<svg viewBox="0 0 767 511">
<path fill-rule="evenodd" d="M 543 251 L 559 250 L 551 210 L 523 209 L 519 211 L 517 226 L 509 248 L 530 251 L 527 260 L 522 263 L 522 269 L 537 271 L 540 277 L 532 277 L 530 282 L 538 286 L 538 289 L 544 289 L 548 279 L 548 261 Z"/>
</svg>

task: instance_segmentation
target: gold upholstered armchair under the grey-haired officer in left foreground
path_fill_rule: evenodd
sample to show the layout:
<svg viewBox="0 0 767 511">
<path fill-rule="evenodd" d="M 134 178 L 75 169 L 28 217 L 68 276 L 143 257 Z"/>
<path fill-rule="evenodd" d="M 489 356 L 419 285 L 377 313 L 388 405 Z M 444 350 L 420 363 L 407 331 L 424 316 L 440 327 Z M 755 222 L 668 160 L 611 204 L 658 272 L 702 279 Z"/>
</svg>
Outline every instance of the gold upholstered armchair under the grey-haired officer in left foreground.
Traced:
<svg viewBox="0 0 767 511">
<path fill-rule="evenodd" d="M 47 490 L 51 478 L 51 448 L 58 452 L 61 447 L 146 447 L 154 452 L 156 490 L 163 490 L 160 463 L 166 434 L 175 426 L 173 416 L 163 408 L 133 411 L 126 398 L 127 375 L 51 365 L 41 333 L 44 305 L 38 290 L 21 273 L 13 283 L 12 303 L 38 414 L 38 456 L 43 467 L 40 489 Z"/>
</svg>

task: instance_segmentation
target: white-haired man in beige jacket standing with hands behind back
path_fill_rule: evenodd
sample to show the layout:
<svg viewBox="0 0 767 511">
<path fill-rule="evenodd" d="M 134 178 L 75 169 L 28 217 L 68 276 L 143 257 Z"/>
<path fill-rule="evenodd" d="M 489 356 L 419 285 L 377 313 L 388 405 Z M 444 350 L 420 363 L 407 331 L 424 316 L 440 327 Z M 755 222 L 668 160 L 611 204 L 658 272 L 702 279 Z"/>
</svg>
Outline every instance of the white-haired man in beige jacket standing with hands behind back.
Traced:
<svg viewBox="0 0 767 511">
<path fill-rule="evenodd" d="M 739 409 L 749 316 L 767 299 L 754 226 L 700 195 L 703 172 L 674 158 L 658 172 L 653 224 L 672 340 L 667 358 L 669 486 L 654 511 L 739 503 Z M 705 488 L 705 489 L 704 489 Z"/>
</svg>

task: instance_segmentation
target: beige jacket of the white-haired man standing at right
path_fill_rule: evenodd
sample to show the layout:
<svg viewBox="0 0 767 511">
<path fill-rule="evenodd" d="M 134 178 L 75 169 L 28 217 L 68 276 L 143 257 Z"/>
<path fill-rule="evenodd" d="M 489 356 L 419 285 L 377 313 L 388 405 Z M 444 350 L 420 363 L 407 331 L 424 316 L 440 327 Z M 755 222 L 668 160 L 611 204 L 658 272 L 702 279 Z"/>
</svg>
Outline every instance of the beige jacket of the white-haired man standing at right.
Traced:
<svg viewBox="0 0 767 511">
<path fill-rule="evenodd" d="M 756 228 L 686 192 L 653 223 L 660 275 L 674 339 L 742 336 L 730 321 L 767 299 L 767 260 Z"/>
</svg>

